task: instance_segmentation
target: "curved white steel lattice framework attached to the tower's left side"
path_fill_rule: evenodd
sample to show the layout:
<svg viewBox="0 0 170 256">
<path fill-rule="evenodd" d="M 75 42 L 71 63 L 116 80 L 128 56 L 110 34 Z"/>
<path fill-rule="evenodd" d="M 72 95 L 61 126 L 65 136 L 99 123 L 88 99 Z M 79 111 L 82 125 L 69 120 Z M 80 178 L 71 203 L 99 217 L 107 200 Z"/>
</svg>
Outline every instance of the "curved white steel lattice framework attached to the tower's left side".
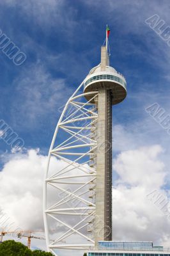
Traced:
<svg viewBox="0 0 170 256">
<path fill-rule="evenodd" d="M 97 102 L 98 92 L 83 93 L 83 84 L 66 102 L 49 150 L 43 205 L 47 247 L 54 255 L 60 249 L 87 250 L 95 244 L 98 115 L 91 100 Z M 86 95 L 91 95 L 89 101 Z M 54 234 L 51 228 L 56 228 Z"/>
</svg>

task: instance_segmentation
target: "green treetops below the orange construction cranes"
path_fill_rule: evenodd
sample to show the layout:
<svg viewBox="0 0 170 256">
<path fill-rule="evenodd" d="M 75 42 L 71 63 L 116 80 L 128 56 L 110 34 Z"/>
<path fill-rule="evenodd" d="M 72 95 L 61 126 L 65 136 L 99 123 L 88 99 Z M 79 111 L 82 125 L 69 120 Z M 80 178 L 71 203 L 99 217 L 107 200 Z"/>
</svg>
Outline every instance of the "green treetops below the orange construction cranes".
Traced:
<svg viewBox="0 0 170 256">
<path fill-rule="evenodd" d="M 0 256 L 53 256 L 50 252 L 31 251 L 27 246 L 13 240 L 0 243 Z"/>
</svg>

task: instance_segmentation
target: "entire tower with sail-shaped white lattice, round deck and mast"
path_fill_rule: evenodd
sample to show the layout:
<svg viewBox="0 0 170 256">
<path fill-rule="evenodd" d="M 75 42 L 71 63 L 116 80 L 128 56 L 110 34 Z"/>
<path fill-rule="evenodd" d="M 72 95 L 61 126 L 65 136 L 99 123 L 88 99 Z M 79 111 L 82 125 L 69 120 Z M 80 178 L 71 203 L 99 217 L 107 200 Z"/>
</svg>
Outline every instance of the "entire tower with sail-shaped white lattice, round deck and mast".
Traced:
<svg viewBox="0 0 170 256">
<path fill-rule="evenodd" d="M 43 216 L 54 255 L 112 239 L 112 105 L 126 95 L 125 77 L 109 66 L 106 36 L 100 64 L 60 110 L 50 145 Z"/>
</svg>

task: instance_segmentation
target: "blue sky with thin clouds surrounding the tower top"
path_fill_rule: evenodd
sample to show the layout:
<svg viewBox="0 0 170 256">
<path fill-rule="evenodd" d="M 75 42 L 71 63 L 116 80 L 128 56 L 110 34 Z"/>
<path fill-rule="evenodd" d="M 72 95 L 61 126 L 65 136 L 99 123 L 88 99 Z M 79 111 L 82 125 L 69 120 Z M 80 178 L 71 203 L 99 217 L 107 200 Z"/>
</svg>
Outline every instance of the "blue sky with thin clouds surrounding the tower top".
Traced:
<svg viewBox="0 0 170 256">
<path fill-rule="evenodd" d="M 22 65 L 16 66 L 0 50 L 1 118 L 24 140 L 26 151 L 40 148 L 39 154 L 47 155 L 61 115 L 59 108 L 89 70 L 100 62 L 100 47 L 108 24 L 111 29 L 110 65 L 127 80 L 127 99 L 112 109 L 115 179 L 124 172 L 118 165 L 120 162 L 121 167 L 126 164 L 126 152 L 151 154 L 151 163 L 158 161 L 164 165 L 162 172 L 166 173 L 166 179 L 158 188 L 169 195 L 170 136 L 145 111 L 157 102 L 164 108 L 165 115 L 170 115 L 170 47 L 145 22 L 157 14 L 170 26 L 169 10 L 168 0 L 1 1 L 0 29 L 27 56 Z M 144 149 L 140 151 L 140 148 Z M 0 166 L 6 170 L 4 162 L 9 164 L 15 156 L 3 140 L 0 141 L 0 152 Z M 121 186 L 128 180 L 121 177 L 116 182 L 116 186 Z M 120 193 L 122 187 L 117 189 Z M 126 200 L 131 199 L 129 196 Z M 158 219 L 155 217 L 154 220 Z M 153 230 L 156 235 L 151 235 L 155 241 L 167 244 L 170 238 L 165 221 L 163 226 L 160 235 L 166 238 L 157 236 L 156 227 Z M 136 230 L 132 231 L 135 236 Z"/>
</svg>

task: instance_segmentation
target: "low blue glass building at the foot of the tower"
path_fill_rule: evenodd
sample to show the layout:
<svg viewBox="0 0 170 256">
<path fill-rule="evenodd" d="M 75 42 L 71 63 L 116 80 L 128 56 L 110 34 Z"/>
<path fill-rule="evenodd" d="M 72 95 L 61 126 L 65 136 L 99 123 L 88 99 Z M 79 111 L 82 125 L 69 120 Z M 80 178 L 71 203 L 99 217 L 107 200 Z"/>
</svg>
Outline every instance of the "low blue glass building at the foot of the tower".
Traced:
<svg viewBox="0 0 170 256">
<path fill-rule="evenodd" d="M 100 241 L 88 256 L 170 256 L 170 248 L 153 246 L 152 242 Z"/>
</svg>

